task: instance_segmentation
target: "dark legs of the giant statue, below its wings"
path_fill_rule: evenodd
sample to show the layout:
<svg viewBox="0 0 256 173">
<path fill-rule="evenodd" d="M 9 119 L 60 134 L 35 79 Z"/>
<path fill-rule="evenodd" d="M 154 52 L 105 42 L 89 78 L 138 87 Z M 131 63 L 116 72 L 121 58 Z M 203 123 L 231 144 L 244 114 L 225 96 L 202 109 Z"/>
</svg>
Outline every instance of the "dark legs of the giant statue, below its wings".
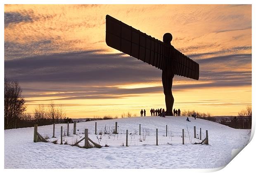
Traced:
<svg viewBox="0 0 256 173">
<path fill-rule="evenodd" d="M 166 70 L 162 71 L 162 82 L 164 87 L 164 95 L 165 95 L 165 104 L 166 104 L 166 115 L 173 116 L 173 103 L 174 98 L 171 91 L 173 85 L 173 76 L 169 75 Z"/>
</svg>

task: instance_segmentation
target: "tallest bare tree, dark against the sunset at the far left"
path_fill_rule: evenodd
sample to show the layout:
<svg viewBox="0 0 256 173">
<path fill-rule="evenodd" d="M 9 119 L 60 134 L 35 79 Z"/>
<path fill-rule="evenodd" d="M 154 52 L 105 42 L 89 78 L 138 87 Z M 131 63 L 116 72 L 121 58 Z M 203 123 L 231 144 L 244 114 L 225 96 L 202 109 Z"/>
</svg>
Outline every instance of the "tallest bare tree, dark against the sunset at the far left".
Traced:
<svg viewBox="0 0 256 173">
<path fill-rule="evenodd" d="M 22 89 L 18 81 L 5 78 L 5 129 L 15 128 L 17 119 L 26 110 L 25 99 L 21 93 Z"/>
</svg>

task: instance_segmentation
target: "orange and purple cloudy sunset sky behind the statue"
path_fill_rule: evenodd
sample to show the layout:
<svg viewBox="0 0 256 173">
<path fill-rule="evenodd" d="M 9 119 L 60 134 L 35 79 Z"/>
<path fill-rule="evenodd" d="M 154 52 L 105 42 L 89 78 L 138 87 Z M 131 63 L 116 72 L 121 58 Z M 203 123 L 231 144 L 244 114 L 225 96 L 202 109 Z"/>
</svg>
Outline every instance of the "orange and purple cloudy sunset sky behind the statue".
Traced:
<svg viewBox="0 0 256 173">
<path fill-rule="evenodd" d="M 5 5 L 5 77 L 27 112 L 62 104 L 72 118 L 164 108 L 161 70 L 108 47 L 109 14 L 199 63 L 175 76 L 173 108 L 237 115 L 251 105 L 251 5 Z"/>
</svg>

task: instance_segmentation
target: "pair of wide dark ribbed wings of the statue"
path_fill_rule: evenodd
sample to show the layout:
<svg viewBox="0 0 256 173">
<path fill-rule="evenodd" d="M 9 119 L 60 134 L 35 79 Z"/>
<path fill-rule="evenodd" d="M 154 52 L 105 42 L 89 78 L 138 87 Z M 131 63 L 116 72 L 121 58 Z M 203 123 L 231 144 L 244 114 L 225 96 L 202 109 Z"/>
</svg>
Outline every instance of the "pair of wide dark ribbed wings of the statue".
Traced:
<svg viewBox="0 0 256 173">
<path fill-rule="evenodd" d="M 173 46 L 170 47 L 109 15 L 106 16 L 106 43 L 109 47 L 161 70 L 166 68 L 167 58 L 172 58 L 175 75 L 197 80 L 199 78 L 198 63 L 181 54 Z"/>
</svg>

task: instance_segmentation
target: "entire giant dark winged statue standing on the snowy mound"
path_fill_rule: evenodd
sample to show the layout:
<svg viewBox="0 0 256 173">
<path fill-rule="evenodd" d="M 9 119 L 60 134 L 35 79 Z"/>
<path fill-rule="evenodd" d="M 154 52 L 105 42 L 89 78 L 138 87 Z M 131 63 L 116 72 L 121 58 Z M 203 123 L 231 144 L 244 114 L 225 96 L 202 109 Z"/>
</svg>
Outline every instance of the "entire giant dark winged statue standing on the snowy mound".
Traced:
<svg viewBox="0 0 256 173">
<path fill-rule="evenodd" d="M 167 116 L 173 115 L 174 98 L 171 88 L 174 75 L 199 79 L 199 64 L 175 49 L 171 45 L 172 39 L 173 36 L 166 33 L 164 42 L 161 42 L 109 15 L 106 16 L 108 46 L 162 70 Z"/>
</svg>

